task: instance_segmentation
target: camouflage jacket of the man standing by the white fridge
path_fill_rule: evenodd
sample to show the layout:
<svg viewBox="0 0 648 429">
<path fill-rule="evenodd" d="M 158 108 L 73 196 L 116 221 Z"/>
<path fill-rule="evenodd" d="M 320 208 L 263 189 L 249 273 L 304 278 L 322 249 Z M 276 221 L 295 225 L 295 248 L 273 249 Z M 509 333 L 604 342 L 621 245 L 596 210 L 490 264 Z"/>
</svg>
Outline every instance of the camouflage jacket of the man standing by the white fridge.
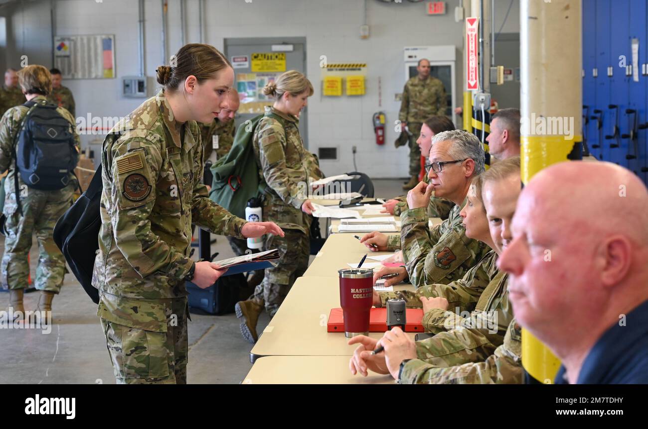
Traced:
<svg viewBox="0 0 648 429">
<path fill-rule="evenodd" d="M 432 76 L 426 80 L 414 76 L 403 88 L 399 120 L 421 124 L 430 116 L 445 115 L 447 104 L 443 82 Z"/>
</svg>

